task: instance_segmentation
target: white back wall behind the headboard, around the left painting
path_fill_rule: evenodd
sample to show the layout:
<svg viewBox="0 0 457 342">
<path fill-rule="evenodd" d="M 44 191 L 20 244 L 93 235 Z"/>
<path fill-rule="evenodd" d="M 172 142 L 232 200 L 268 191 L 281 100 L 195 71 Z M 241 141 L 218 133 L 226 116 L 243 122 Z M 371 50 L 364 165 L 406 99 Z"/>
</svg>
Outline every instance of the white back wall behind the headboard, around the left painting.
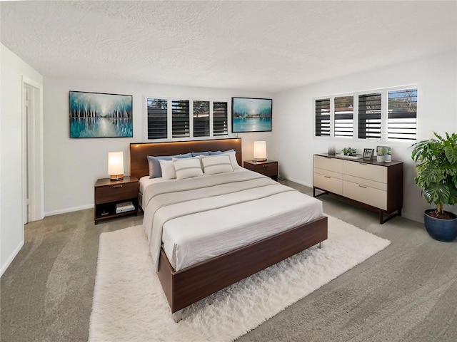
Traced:
<svg viewBox="0 0 457 342">
<path fill-rule="evenodd" d="M 70 139 L 69 90 L 133 95 L 134 138 Z M 226 100 L 229 106 L 231 106 L 232 96 L 271 98 L 271 94 L 268 93 L 246 90 L 45 77 L 44 212 L 46 216 L 94 206 L 94 183 L 98 178 L 108 177 L 109 151 L 124 151 L 124 168 L 126 175 L 129 175 L 129 143 L 147 141 L 145 95 Z M 275 124 L 273 120 L 273 130 Z M 231 133 L 229 135 L 234 136 Z M 244 160 L 252 158 L 254 140 L 266 140 L 267 149 L 271 151 L 268 157 L 273 159 L 272 133 L 243 133 L 238 136 L 242 138 Z"/>
</svg>

